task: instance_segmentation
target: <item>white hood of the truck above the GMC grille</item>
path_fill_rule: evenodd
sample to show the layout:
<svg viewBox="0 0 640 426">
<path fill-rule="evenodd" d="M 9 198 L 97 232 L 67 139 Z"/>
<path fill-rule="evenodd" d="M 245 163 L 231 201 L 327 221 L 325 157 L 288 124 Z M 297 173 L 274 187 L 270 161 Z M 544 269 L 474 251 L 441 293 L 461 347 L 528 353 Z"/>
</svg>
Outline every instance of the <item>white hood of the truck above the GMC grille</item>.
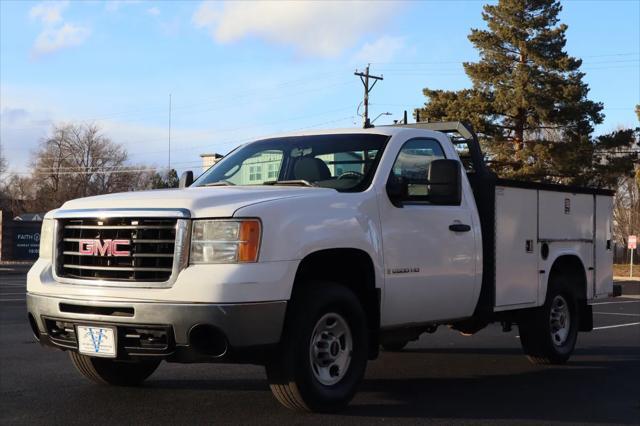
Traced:
<svg viewBox="0 0 640 426">
<path fill-rule="evenodd" d="M 214 186 L 120 192 L 67 201 L 60 210 L 79 209 L 188 209 L 191 217 L 231 217 L 252 204 L 335 192 L 328 188 L 278 186 Z"/>
</svg>

